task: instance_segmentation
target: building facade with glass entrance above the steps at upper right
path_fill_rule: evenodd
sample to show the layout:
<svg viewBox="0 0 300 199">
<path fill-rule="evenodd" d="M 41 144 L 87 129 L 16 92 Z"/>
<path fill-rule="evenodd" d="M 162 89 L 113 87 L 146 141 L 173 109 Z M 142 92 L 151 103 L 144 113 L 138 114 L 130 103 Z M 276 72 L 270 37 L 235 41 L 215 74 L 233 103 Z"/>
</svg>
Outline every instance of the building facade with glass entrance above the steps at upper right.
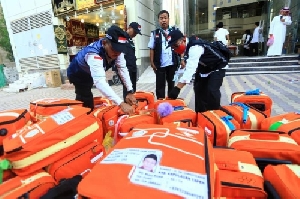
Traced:
<svg viewBox="0 0 300 199">
<path fill-rule="evenodd" d="M 241 38 L 244 31 L 253 32 L 255 22 L 264 24 L 263 38 L 266 43 L 270 22 L 279 10 L 290 2 L 290 13 L 293 23 L 287 26 L 286 43 L 283 53 L 298 53 L 300 48 L 300 1 L 299 0 L 182 0 L 179 12 L 184 25 L 181 29 L 187 36 L 195 34 L 206 40 L 213 40 L 216 25 L 223 22 L 229 30 L 230 43 L 242 47 Z M 176 6 L 178 0 L 164 0 L 163 9 L 170 11 L 170 24 L 176 24 Z M 174 17 L 173 17 L 174 16 Z M 173 21 L 172 21 L 173 20 Z M 178 20 L 177 20 L 178 21 Z M 178 25 L 178 24 L 176 24 Z M 180 24 L 182 25 L 182 24 Z M 265 44 L 260 44 L 260 55 L 266 55 Z"/>
</svg>

